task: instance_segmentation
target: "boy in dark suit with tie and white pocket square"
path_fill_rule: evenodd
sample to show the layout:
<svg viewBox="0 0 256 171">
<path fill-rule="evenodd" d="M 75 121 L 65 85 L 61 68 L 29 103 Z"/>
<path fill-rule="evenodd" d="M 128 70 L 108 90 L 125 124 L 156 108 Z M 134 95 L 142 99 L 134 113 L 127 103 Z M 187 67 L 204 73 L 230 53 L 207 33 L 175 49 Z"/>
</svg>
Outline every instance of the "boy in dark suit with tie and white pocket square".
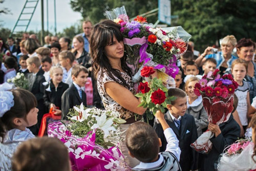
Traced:
<svg viewBox="0 0 256 171">
<path fill-rule="evenodd" d="M 198 154 L 190 147 L 190 144 L 197 139 L 197 126 L 194 117 L 185 114 L 187 110 L 186 93 L 181 89 L 175 88 L 168 90 L 168 96 L 177 97 L 171 104 L 167 104 L 168 112 L 165 113 L 164 118 L 179 140 L 181 168 L 185 171 L 197 170 Z M 162 141 L 160 152 L 164 152 L 167 141 L 164 137 L 161 124 L 157 122 L 156 120 L 154 129 Z"/>
</svg>

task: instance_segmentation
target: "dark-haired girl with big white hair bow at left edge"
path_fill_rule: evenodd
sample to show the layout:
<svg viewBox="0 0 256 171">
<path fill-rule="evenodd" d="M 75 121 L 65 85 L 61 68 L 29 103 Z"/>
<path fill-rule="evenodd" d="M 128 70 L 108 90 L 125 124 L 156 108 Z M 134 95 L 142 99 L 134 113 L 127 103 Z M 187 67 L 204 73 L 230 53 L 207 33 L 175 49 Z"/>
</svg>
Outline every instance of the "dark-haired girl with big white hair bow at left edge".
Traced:
<svg viewBox="0 0 256 171">
<path fill-rule="evenodd" d="M 11 158 L 16 147 L 34 138 L 27 127 L 37 123 L 35 96 L 12 85 L 0 85 L 0 170 L 11 170 Z"/>
</svg>

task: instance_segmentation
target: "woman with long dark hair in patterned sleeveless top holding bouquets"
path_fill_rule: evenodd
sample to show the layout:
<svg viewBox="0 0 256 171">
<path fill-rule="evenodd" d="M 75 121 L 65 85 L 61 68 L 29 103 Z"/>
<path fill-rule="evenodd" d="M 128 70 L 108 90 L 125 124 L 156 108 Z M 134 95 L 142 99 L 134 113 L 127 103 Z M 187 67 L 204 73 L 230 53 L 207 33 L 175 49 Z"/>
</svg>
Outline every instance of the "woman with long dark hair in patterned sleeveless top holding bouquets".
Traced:
<svg viewBox="0 0 256 171">
<path fill-rule="evenodd" d="M 143 115 L 146 109 L 138 107 L 140 100 L 134 96 L 132 72 L 126 65 L 123 36 L 120 26 L 112 20 L 105 20 L 94 26 L 90 38 L 93 71 L 97 88 L 106 110 L 119 113 L 126 120 L 121 124 L 122 137 L 128 127 L 139 120 L 136 114 Z M 120 142 L 125 161 L 130 167 L 136 166 L 137 159 L 129 157 L 125 142 Z"/>
</svg>

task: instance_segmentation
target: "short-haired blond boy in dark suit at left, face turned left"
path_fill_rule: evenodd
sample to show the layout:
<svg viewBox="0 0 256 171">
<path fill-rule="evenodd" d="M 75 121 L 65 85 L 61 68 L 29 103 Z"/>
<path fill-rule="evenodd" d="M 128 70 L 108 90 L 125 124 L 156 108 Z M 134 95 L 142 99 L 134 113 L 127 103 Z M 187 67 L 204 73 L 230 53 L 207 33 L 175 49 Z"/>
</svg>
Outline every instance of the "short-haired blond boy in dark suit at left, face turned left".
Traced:
<svg viewBox="0 0 256 171">
<path fill-rule="evenodd" d="M 39 69 L 41 62 L 36 56 L 27 58 L 27 68 L 29 70 L 28 81 L 29 81 L 29 91 L 33 93 L 37 100 L 36 108 L 39 110 L 37 115 L 37 125 L 31 126 L 30 130 L 34 135 L 38 134 L 38 130 L 41 124 L 42 116 L 46 113 L 46 106 L 44 104 L 44 90 L 45 87 L 42 84 L 45 82 L 44 73 Z M 25 99 L 26 100 L 26 99 Z"/>
</svg>

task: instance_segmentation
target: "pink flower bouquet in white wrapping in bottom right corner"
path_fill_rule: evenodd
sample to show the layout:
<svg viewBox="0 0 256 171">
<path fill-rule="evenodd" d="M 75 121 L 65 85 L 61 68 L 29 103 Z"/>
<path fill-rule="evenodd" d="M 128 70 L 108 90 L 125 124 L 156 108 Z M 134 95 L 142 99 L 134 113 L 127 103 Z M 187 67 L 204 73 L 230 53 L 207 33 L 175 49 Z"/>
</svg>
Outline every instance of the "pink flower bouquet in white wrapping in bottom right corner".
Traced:
<svg viewBox="0 0 256 171">
<path fill-rule="evenodd" d="M 256 169 L 256 157 L 253 156 L 254 143 L 248 139 L 238 140 L 225 149 L 219 159 L 218 170 L 252 170 Z"/>
</svg>

